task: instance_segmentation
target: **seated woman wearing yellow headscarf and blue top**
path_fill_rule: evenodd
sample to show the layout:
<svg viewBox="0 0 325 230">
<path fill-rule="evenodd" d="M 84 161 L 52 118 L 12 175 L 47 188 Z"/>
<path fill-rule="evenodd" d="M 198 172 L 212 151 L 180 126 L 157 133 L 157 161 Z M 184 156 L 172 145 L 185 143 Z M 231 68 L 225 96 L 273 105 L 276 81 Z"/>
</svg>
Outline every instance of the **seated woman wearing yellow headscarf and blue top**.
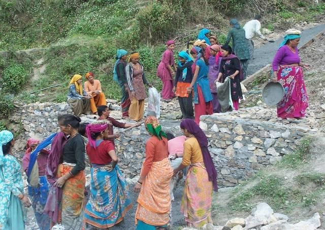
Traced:
<svg viewBox="0 0 325 230">
<path fill-rule="evenodd" d="M 69 83 L 68 103 L 77 117 L 90 113 L 90 97 L 82 88 L 82 76 L 75 74 Z"/>
</svg>

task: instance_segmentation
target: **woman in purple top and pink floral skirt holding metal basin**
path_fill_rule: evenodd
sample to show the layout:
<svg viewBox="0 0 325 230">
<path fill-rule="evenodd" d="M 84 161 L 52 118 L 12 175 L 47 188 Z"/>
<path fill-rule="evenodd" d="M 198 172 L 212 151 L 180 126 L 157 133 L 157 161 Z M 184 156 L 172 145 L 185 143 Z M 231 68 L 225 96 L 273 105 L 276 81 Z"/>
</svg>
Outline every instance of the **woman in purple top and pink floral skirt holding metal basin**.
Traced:
<svg viewBox="0 0 325 230">
<path fill-rule="evenodd" d="M 279 82 L 284 88 L 284 97 L 277 104 L 277 116 L 282 119 L 305 117 L 308 107 L 303 67 L 309 69 L 309 65 L 301 62 L 298 53 L 300 33 L 295 29 L 286 31 L 272 62 L 273 81 Z"/>
</svg>

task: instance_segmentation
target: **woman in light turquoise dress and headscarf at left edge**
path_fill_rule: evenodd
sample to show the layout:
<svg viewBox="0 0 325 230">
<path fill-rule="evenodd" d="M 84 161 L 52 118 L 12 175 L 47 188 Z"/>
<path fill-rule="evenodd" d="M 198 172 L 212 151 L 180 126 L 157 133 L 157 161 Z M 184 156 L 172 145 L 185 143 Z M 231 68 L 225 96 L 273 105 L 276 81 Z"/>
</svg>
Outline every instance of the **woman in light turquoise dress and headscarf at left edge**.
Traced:
<svg viewBox="0 0 325 230">
<path fill-rule="evenodd" d="M 0 132 L 0 229 L 25 229 L 22 204 L 30 207 L 24 195 L 20 164 L 12 154 L 13 134 Z"/>
</svg>

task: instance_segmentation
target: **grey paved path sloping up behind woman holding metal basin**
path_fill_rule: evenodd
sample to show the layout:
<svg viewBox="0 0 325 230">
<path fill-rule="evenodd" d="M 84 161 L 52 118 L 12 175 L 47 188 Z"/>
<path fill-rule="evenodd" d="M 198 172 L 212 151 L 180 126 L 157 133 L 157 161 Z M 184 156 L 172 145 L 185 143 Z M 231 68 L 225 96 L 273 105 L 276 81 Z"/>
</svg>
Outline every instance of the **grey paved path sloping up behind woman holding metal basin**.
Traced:
<svg viewBox="0 0 325 230">
<path fill-rule="evenodd" d="M 306 29 L 301 33 L 301 40 L 299 47 L 307 43 L 318 33 L 325 30 L 325 24 L 320 24 L 314 28 Z M 263 68 L 269 63 L 272 63 L 274 55 L 282 42 L 282 39 L 275 41 L 275 43 L 267 43 L 260 48 L 254 50 L 254 59 L 249 61 L 247 74 L 251 75 L 259 69 Z"/>
</svg>

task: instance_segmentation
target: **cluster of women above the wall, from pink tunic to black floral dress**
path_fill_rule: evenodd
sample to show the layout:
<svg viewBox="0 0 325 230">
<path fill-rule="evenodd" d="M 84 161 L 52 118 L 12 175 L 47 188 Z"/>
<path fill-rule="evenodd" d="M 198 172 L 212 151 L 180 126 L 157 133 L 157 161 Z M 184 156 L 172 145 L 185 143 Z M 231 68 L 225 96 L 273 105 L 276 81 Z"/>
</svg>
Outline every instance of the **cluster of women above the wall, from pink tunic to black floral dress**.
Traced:
<svg viewBox="0 0 325 230">
<path fill-rule="evenodd" d="M 217 37 L 208 36 L 209 32 L 206 28 L 202 29 L 190 52 L 178 53 L 177 65 L 173 52 L 175 42 L 168 41 L 167 50 L 157 69 L 157 76 L 163 82 L 163 91 L 161 91 L 163 99 L 169 100 L 174 95 L 177 96 L 183 119 L 194 118 L 197 124 L 202 115 L 221 111 L 216 82 L 223 83 L 227 77 L 231 78 L 229 99 L 232 100 L 230 104 L 233 104 L 236 110 L 239 107 L 239 100 L 242 99 L 241 62 L 233 54 L 230 46 L 220 47 Z M 176 73 L 174 73 L 175 68 Z M 175 80 L 172 78 L 174 74 Z M 228 106 L 225 111 L 228 109 L 231 107 Z"/>
</svg>

